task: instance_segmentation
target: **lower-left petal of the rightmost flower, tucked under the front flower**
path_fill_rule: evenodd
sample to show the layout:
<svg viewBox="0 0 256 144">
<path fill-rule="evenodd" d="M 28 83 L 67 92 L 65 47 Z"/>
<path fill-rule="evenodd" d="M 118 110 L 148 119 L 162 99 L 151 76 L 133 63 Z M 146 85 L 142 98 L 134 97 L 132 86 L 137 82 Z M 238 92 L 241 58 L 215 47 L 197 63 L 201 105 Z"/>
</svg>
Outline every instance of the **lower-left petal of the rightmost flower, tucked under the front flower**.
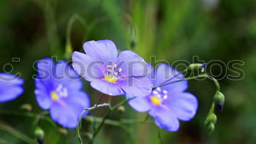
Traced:
<svg viewBox="0 0 256 144">
<path fill-rule="evenodd" d="M 127 96 L 127 99 L 134 96 Z M 137 96 L 135 99 L 129 100 L 129 105 L 140 113 L 147 112 L 151 109 L 151 104 L 148 102 L 147 96 Z"/>
</svg>

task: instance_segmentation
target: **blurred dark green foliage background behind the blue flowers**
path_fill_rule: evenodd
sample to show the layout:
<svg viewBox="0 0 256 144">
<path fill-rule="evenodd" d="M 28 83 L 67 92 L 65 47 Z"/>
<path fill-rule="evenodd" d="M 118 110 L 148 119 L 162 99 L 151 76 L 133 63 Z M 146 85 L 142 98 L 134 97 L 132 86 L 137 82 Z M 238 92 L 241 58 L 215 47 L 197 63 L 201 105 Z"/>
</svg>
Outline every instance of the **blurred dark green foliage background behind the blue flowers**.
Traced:
<svg viewBox="0 0 256 144">
<path fill-rule="evenodd" d="M 50 56 L 68 58 L 64 55 L 67 49 L 82 50 L 83 42 L 91 39 L 111 39 L 120 50 L 131 48 L 147 61 L 150 56 L 170 64 L 177 60 L 192 62 L 193 56 L 225 64 L 244 61 L 243 66 L 237 66 L 244 70 L 242 80 L 219 80 L 226 102 L 222 113 L 216 110 L 218 121 L 212 134 L 208 134 L 204 120 L 215 87 L 210 80 L 194 80 L 189 82 L 189 92 L 199 100 L 195 118 L 181 122 L 178 132 L 162 129 L 161 135 L 163 143 L 256 142 L 256 1 L 0 0 L 1 72 L 11 71 L 5 64 L 12 64 L 12 73 L 20 72 L 26 80 L 24 94 L 0 104 L 0 143 L 20 144 L 26 143 L 24 137 L 34 138 L 35 118 L 23 115 L 26 110 L 20 108 L 29 104 L 33 113 L 42 112 L 34 96 L 34 61 Z M 12 62 L 12 58 L 20 58 L 20 62 Z M 214 72 L 218 74 L 221 69 L 216 67 Z M 227 70 L 227 74 L 232 71 Z M 87 82 L 84 87 L 91 104 L 95 104 L 100 93 Z M 124 97 L 114 97 L 113 104 L 121 99 Z M 146 117 L 146 113 L 137 113 L 128 105 L 125 108 L 125 113 L 115 112 L 110 119 Z M 107 110 L 91 113 L 102 117 Z M 74 129 L 61 129 L 45 120 L 39 121 L 39 126 L 45 131 L 45 143 L 72 143 Z M 26 136 L 20 138 L 17 131 Z M 83 121 L 83 132 L 90 131 L 89 122 Z M 125 129 L 106 125 L 95 143 L 160 143 L 158 132 L 151 124 L 131 124 Z"/>
</svg>

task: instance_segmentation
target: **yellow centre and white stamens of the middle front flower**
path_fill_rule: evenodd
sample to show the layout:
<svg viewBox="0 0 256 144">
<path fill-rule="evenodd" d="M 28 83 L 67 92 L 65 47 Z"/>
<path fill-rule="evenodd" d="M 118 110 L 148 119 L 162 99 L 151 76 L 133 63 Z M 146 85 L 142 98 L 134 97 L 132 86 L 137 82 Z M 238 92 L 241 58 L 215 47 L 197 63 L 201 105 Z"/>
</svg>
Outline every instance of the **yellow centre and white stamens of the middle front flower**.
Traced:
<svg viewBox="0 0 256 144">
<path fill-rule="evenodd" d="M 118 80 L 118 75 L 121 72 L 121 68 L 116 69 L 116 64 L 108 65 L 108 71 L 105 73 L 105 80 L 110 83 L 116 83 L 116 80 Z"/>
</svg>

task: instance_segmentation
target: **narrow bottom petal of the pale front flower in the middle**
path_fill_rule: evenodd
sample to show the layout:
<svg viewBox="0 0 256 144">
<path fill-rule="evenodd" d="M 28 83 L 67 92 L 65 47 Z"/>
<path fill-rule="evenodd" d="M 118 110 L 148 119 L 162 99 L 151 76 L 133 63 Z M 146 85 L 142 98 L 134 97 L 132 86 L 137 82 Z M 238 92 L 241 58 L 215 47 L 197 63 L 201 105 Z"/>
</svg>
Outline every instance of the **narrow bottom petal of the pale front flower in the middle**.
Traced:
<svg viewBox="0 0 256 144">
<path fill-rule="evenodd" d="M 124 94 L 124 91 L 116 83 L 110 83 L 105 80 L 94 80 L 91 87 L 110 96 L 118 96 Z"/>
</svg>

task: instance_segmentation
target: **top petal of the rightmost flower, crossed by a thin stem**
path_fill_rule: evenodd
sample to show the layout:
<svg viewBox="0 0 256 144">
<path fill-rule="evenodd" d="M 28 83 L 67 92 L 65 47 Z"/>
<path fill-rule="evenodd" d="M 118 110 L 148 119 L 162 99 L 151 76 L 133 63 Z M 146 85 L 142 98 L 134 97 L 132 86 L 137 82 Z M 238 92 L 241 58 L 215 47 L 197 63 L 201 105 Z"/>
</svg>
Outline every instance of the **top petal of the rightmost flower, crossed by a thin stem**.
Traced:
<svg viewBox="0 0 256 144">
<path fill-rule="evenodd" d="M 154 86 L 158 86 L 162 83 L 170 83 L 170 82 L 181 80 L 181 79 L 184 79 L 184 75 L 181 72 L 178 72 L 176 69 L 173 69 L 173 67 L 170 67 L 167 64 L 160 64 L 159 67 L 157 67 L 156 80 L 155 80 Z M 163 89 L 170 92 L 185 91 L 187 87 L 188 87 L 187 80 L 162 86 Z"/>
</svg>

